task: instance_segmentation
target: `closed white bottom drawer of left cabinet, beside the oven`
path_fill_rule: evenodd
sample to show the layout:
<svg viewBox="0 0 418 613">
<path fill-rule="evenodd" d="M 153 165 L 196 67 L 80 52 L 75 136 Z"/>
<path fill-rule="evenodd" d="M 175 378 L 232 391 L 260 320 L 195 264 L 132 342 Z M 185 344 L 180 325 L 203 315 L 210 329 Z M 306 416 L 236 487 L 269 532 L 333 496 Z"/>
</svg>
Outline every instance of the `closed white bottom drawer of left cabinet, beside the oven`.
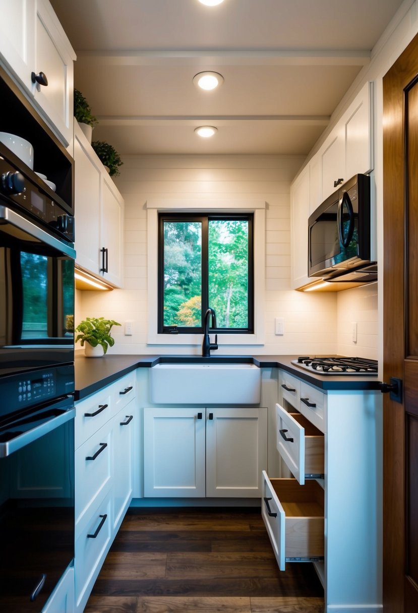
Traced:
<svg viewBox="0 0 418 613">
<path fill-rule="evenodd" d="M 75 603 L 83 611 L 104 562 L 112 535 L 110 493 L 95 508 L 75 539 Z"/>
</svg>

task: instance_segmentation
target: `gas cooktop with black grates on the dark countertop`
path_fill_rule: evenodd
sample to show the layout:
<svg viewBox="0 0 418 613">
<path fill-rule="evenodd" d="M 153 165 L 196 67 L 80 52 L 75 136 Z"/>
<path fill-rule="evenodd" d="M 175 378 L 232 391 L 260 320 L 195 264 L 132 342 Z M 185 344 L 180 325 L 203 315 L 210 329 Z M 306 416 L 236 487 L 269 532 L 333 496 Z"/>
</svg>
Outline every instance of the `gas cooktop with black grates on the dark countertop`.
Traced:
<svg viewBox="0 0 418 613">
<path fill-rule="evenodd" d="M 292 364 L 317 375 L 378 375 L 378 360 L 363 357 L 298 357 Z"/>
</svg>

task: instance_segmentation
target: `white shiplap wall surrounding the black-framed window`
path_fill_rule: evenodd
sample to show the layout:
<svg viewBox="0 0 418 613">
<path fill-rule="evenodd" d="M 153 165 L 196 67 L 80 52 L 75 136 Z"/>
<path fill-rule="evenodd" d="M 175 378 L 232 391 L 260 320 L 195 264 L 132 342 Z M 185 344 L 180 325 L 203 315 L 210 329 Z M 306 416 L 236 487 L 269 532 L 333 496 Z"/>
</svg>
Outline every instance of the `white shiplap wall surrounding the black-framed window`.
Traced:
<svg viewBox="0 0 418 613">
<path fill-rule="evenodd" d="M 147 237 L 148 199 L 261 199 L 267 202 L 265 232 L 265 344 L 222 346 L 217 354 L 334 353 L 337 348 L 336 294 L 289 289 L 290 185 L 300 156 L 126 156 L 116 180 L 125 200 L 125 285 L 112 292 L 78 292 L 76 318 L 105 316 L 131 320 L 133 334 L 113 328 L 113 353 L 199 354 L 200 346 L 148 346 Z M 81 294 L 81 295 L 80 295 Z M 284 318 L 284 335 L 274 333 L 275 317 Z"/>
</svg>

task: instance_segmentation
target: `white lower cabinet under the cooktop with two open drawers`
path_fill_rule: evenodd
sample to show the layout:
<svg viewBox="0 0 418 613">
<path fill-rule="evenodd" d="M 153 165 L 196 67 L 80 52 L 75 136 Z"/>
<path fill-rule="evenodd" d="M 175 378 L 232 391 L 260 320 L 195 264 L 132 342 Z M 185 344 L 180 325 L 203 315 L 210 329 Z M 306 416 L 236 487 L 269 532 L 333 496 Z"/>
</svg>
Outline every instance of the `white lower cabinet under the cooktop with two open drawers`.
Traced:
<svg viewBox="0 0 418 613">
<path fill-rule="evenodd" d="M 325 613 L 378 613 L 380 392 L 324 392 L 281 370 L 276 412 L 277 449 L 292 478 L 263 474 L 262 517 L 279 568 L 313 560 L 324 585 Z"/>
</svg>

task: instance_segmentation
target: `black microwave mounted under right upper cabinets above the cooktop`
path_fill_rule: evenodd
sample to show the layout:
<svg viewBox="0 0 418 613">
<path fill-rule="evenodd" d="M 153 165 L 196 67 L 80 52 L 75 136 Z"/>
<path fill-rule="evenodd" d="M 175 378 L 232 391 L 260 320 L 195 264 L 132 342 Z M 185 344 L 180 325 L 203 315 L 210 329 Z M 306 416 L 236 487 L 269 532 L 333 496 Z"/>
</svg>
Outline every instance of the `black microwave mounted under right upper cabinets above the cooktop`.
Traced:
<svg viewBox="0 0 418 613">
<path fill-rule="evenodd" d="M 370 177 L 355 175 L 308 220 L 308 276 L 326 281 L 376 281 L 371 259 Z"/>
</svg>

